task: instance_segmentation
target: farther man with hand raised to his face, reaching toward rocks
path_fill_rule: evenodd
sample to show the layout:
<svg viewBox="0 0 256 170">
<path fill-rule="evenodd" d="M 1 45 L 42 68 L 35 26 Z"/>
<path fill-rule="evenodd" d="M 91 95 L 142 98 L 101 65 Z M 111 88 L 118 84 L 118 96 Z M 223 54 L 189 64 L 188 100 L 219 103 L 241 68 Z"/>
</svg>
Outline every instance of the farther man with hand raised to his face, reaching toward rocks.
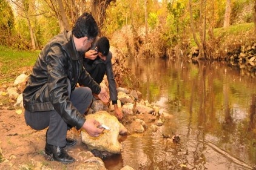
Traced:
<svg viewBox="0 0 256 170">
<path fill-rule="evenodd" d="M 115 116 L 121 120 L 123 118 L 123 113 L 117 105 L 118 97 L 116 91 L 116 82 L 111 62 L 112 53 L 109 51 L 109 48 L 109 39 L 107 39 L 105 36 L 101 38 L 97 37 L 92 43 L 90 50 L 86 51 L 84 54 L 83 65 L 93 80 L 95 80 L 98 84 L 103 81 L 104 75 L 107 74 L 110 100 L 112 100 L 112 104 L 114 105 Z"/>
</svg>

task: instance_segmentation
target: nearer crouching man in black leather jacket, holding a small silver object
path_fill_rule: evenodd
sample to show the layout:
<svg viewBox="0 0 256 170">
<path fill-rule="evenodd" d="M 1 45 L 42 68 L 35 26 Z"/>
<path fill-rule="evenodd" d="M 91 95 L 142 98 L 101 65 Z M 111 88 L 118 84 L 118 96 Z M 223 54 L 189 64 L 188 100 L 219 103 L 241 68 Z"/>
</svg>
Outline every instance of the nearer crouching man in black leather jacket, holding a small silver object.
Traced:
<svg viewBox="0 0 256 170">
<path fill-rule="evenodd" d="M 85 119 L 83 114 L 92 102 L 92 93 L 103 102 L 109 94 L 99 87 L 83 68 L 83 54 L 98 34 L 98 27 L 89 13 L 81 15 L 72 31 L 64 31 L 42 49 L 23 91 L 25 122 L 33 129 L 47 127 L 45 154 L 62 163 L 75 161 L 64 150 L 75 145 L 67 139 L 67 130 L 83 128 L 90 136 L 99 136 L 99 122 Z M 76 83 L 84 87 L 76 87 Z"/>
</svg>

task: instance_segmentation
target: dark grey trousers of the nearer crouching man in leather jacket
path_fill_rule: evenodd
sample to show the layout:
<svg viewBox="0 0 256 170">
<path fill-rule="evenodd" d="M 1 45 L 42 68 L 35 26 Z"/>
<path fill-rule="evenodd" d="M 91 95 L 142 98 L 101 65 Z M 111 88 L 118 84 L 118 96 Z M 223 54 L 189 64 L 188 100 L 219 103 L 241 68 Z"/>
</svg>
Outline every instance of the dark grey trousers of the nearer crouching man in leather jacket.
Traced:
<svg viewBox="0 0 256 170">
<path fill-rule="evenodd" d="M 88 87 L 78 87 L 71 93 L 70 87 L 69 83 L 70 101 L 79 113 L 84 114 L 90 103 L 92 103 L 92 91 Z M 25 110 L 25 122 L 35 130 L 42 130 L 49 127 L 47 131 L 47 143 L 61 147 L 66 146 L 67 130 L 72 127 L 64 122 L 57 111 L 30 113 Z"/>
</svg>

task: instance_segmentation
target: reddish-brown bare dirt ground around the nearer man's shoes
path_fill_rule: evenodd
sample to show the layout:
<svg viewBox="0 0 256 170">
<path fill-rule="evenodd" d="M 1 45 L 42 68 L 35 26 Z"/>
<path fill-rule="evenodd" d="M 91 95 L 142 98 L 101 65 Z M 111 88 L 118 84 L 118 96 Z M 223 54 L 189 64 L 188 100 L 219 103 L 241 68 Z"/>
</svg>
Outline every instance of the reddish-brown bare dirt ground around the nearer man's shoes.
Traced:
<svg viewBox="0 0 256 170">
<path fill-rule="evenodd" d="M 68 165 L 48 160 L 44 154 L 45 132 L 46 129 L 35 131 L 25 124 L 24 110 L 17 114 L 16 110 L 0 107 L 0 169 L 75 169 L 79 164 L 75 153 L 81 148 L 88 151 L 79 132 L 68 132 L 68 137 L 78 140 L 75 146 L 65 148 L 76 159 Z"/>
</svg>

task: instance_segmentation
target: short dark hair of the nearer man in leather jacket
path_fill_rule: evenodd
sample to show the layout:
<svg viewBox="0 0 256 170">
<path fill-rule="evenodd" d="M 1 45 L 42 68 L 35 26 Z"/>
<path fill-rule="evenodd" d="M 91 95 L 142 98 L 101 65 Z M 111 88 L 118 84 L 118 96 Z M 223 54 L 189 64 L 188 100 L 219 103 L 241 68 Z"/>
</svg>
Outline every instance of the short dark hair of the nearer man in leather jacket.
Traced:
<svg viewBox="0 0 256 170">
<path fill-rule="evenodd" d="M 98 35 L 98 26 L 90 13 L 83 13 L 77 19 L 72 33 L 76 38 L 87 36 L 88 39 L 94 39 Z"/>
</svg>

